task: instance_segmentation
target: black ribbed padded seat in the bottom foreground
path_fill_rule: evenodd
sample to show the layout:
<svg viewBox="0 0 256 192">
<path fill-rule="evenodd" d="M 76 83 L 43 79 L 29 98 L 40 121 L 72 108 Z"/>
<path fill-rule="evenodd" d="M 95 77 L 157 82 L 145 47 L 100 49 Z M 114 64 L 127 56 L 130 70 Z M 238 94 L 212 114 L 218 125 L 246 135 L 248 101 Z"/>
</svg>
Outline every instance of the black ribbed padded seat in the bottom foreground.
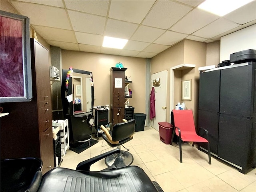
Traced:
<svg viewBox="0 0 256 192">
<path fill-rule="evenodd" d="M 157 187 L 137 166 L 94 172 L 54 168 L 44 174 L 38 192 L 157 192 Z"/>
</svg>

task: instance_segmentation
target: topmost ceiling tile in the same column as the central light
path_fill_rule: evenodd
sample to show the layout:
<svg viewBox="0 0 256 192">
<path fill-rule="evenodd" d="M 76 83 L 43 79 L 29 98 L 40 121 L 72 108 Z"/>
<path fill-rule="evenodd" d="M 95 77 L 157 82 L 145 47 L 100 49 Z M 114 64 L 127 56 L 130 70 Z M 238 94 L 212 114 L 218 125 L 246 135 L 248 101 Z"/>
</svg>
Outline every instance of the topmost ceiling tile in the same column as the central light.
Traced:
<svg viewBox="0 0 256 192">
<path fill-rule="evenodd" d="M 140 24 L 155 0 L 111 1 L 108 17 Z"/>
</svg>

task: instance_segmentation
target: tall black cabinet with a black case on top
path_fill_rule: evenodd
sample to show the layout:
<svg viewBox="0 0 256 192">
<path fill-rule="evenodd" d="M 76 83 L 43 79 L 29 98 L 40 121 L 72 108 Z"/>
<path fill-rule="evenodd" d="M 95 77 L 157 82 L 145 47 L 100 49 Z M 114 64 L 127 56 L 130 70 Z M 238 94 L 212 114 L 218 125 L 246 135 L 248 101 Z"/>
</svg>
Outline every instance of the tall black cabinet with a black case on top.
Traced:
<svg viewBox="0 0 256 192">
<path fill-rule="evenodd" d="M 243 174 L 256 166 L 255 70 L 248 62 L 200 73 L 198 124 L 209 132 L 211 152 Z"/>
</svg>

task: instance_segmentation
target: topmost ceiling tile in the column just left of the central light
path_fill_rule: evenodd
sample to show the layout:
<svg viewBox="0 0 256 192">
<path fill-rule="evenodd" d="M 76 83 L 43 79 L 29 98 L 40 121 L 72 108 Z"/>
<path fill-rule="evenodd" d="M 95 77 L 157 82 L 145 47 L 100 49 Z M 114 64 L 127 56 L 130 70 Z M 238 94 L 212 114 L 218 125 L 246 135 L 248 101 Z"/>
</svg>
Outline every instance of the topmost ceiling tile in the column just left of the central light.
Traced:
<svg viewBox="0 0 256 192">
<path fill-rule="evenodd" d="M 107 0 L 97 0 L 97 1 L 85 1 L 85 0 L 65 0 L 67 9 L 82 11 L 86 13 L 107 16 L 108 4 Z"/>
</svg>

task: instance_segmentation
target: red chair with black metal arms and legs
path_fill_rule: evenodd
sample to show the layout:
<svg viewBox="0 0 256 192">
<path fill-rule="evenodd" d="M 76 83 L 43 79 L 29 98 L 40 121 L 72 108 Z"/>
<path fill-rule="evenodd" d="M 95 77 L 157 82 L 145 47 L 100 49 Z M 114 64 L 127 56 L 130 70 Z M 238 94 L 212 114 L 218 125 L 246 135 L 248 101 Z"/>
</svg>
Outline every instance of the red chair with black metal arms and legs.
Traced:
<svg viewBox="0 0 256 192">
<path fill-rule="evenodd" d="M 173 129 L 171 145 L 172 145 L 172 141 L 175 133 L 179 138 L 180 162 L 182 163 L 181 142 L 193 142 L 192 146 L 194 146 L 194 143 L 204 142 L 204 143 L 207 143 L 207 146 L 208 146 L 209 164 L 212 164 L 210 144 L 208 141 L 209 140 L 208 131 L 204 128 L 201 128 L 201 127 L 199 128 L 204 130 L 204 132 L 206 133 L 206 138 L 203 138 L 196 133 L 192 110 L 172 110 L 172 111 L 174 116 L 175 127 Z"/>
</svg>

